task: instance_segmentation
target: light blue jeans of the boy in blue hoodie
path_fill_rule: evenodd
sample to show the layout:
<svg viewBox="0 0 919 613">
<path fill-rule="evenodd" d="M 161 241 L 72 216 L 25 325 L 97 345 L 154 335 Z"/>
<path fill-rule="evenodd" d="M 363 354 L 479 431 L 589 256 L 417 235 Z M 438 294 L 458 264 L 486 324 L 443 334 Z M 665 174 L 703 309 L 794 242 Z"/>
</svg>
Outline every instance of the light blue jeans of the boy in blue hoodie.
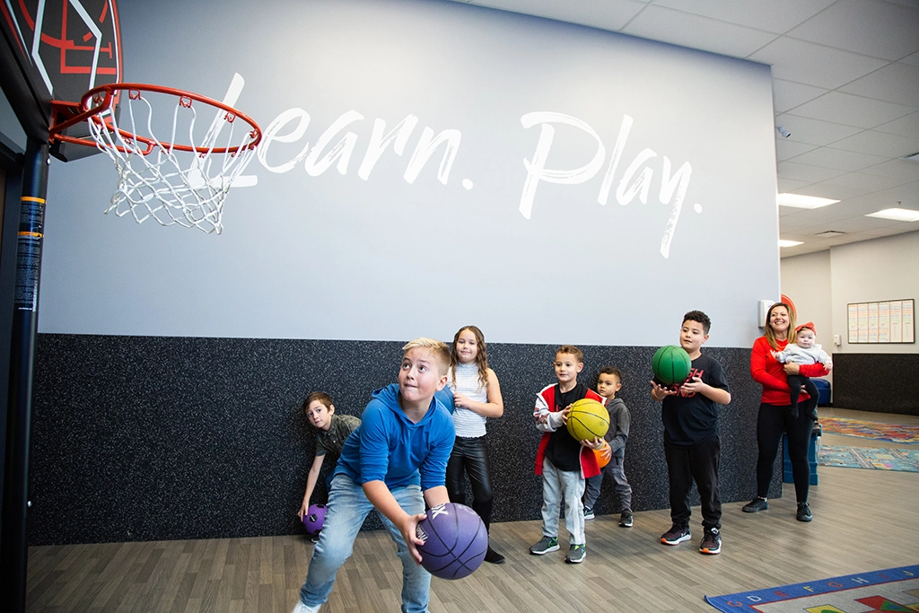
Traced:
<svg viewBox="0 0 919 613">
<path fill-rule="evenodd" d="M 425 512 L 425 498 L 419 486 L 406 485 L 390 491 L 409 515 Z M 346 475 L 335 476 L 329 491 L 323 531 L 319 533 L 319 542 L 313 546 L 310 570 L 300 588 L 300 600 L 304 605 L 315 607 L 328 599 L 335 585 L 335 573 L 351 557 L 354 539 L 357 539 L 357 532 L 371 510 L 374 507 L 360 485 Z M 403 562 L 403 613 L 425 613 L 431 574 L 414 562 L 399 529 L 382 513 L 377 513 L 395 541 L 399 559 Z"/>
</svg>

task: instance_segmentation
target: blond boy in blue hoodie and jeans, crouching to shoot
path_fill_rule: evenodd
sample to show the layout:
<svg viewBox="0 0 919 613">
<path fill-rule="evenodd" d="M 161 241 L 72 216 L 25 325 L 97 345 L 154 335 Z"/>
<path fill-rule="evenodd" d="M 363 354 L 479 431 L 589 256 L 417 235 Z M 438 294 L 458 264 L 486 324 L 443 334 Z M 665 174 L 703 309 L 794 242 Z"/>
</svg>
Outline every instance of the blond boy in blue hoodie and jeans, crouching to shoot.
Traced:
<svg viewBox="0 0 919 613">
<path fill-rule="evenodd" d="M 403 562 L 403 611 L 425 613 L 431 575 L 415 535 L 428 506 L 449 502 L 445 473 L 456 431 L 435 393 L 447 384 L 449 347 L 430 338 L 403 346 L 399 383 L 373 392 L 335 467 L 328 510 L 293 613 L 316 613 L 357 532 L 376 509 Z"/>
</svg>

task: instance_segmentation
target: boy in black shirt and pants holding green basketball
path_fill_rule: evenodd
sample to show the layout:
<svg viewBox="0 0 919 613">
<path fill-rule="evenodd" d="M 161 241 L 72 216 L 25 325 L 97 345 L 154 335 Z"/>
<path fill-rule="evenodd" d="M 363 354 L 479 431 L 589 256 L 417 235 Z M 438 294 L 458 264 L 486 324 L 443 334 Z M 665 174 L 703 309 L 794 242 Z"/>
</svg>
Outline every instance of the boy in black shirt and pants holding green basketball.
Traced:
<svg viewBox="0 0 919 613">
<path fill-rule="evenodd" d="M 670 481 L 670 517 L 674 525 L 661 536 L 664 545 L 689 540 L 689 490 L 696 481 L 702 500 L 702 553 L 721 551 L 721 501 L 718 497 L 718 406 L 731 402 L 724 369 L 714 358 L 702 355 L 709 340 L 711 320 L 701 311 L 687 312 L 680 328 L 680 346 L 692 368 L 682 383 L 664 387 L 651 381 L 651 397 L 662 402 L 664 457 Z"/>
</svg>

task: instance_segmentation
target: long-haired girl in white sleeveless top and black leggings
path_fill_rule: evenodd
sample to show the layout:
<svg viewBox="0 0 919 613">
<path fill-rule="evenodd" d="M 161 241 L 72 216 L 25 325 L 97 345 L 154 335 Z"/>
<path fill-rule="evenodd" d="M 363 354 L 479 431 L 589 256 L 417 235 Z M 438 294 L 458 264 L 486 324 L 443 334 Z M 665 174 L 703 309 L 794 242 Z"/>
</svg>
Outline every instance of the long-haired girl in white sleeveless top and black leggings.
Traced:
<svg viewBox="0 0 919 613">
<path fill-rule="evenodd" d="M 457 437 L 447 463 L 447 490 L 450 502 L 465 504 L 466 480 L 472 486 L 472 510 L 482 517 L 485 529 L 492 519 L 492 477 L 488 466 L 485 419 L 505 412 L 501 386 L 494 370 L 488 368 L 485 337 L 474 325 L 459 328 L 453 336 L 448 377 L 453 392 L 453 425 Z M 489 545 L 485 562 L 501 564 L 505 557 Z"/>
</svg>

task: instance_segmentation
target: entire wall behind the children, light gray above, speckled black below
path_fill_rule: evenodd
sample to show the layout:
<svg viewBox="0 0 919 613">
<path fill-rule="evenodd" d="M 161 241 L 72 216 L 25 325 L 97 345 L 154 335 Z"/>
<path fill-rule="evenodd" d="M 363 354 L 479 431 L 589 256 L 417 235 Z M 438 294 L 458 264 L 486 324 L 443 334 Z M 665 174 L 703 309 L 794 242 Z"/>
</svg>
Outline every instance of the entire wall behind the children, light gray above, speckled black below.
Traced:
<svg viewBox="0 0 919 613">
<path fill-rule="evenodd" d="M 538 517 L 530 410 L 561 343 L 587 347 L 588 373 L 626 371 L 636 507 L 667 504 L 647 365 L 690 309 L 734 392 L 722 499 L 754 494 L 749 347 L 779 293 L 768 67 L 435 0 L 126 0 L 119 17 L 128 81 L 221 98 L 242 74 L 238 106 L 274 136 L 220 236 L 103 217 L 108 159 L 52 162 L 34 542 L 296 530 L 303 396 L 357 414 L 400 343 L 470 323 L 508 407 L 496 521 Z M 403 154 L 361 175 L 375 126 L 409 116 Z M 454 148 L 406 179 L 425 128 Z"/>
</svg>

